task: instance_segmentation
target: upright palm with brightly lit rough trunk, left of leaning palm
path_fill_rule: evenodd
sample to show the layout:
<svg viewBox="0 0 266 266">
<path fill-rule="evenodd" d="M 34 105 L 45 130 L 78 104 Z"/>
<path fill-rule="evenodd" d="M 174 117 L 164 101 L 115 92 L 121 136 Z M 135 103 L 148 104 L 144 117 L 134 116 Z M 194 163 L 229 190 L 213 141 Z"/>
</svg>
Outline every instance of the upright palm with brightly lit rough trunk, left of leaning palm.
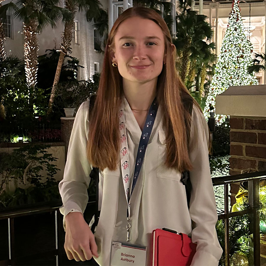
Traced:
<svg viewBox="0 0 266 266">
<path fill-rule="evenodd" d="M 68 11 L 58 7 L 60 0 L 17 0 L 0 7 L 0 17 L 5 19 L 7 12 L 14 12 L 14 17 L 23 22 L 24 57 L 27 85 L 34 90 L 37 83 L 38 71 L 38 38 L 46 26 L 56 26 L 56 22 L 63 16 L 67 19 Z"/>
</svg>

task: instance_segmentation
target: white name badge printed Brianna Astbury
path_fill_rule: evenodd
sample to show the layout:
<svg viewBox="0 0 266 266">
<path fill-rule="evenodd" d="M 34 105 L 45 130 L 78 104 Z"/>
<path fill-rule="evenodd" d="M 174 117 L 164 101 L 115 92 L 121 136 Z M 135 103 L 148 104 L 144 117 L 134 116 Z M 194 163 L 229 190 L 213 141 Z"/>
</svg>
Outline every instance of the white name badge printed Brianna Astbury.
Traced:
<svg viewBox="0 0 266 266">
<path fill-rule="evenodd" d="M 112 242 L 111 266 L 146 265 L 146 247 Z"/>
</svg>

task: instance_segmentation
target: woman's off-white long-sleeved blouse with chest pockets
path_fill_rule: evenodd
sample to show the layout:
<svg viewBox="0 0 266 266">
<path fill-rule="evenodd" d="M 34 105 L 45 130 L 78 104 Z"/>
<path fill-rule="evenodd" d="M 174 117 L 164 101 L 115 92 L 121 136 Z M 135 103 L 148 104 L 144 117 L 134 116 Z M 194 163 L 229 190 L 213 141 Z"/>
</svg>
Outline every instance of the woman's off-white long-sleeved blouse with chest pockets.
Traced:
<svg viewBox="0 0 266 266">
<path fill-rule="evenodd" d="M 130 176 L 133 176 L 142 132 L 125 97 L 121 108 L 124 108 L 126 120 Z M 59 183 L 63 202 L 60 212 L 64 215 L 64 229 L 65 216 L 70 212 L 84 213 L 88 202 L 87 187 L 92 168 L 86 158 L 88 114 L 89 101 L 86 101 L 82 103 L 75 117 L 64 178 Z M 215 230 L 218 215 L 210 176 L 206 120 L 193 106 L 189 142 L 189 157 L 193 166 L 190 171 L 192 192 L 188 209 L 185 186 L 180 181 L 181 173 L 164 166 L 166 136 L 162 117 L 159 106 L 140 175 L 131 197 L 132 222 L 129 243 L 147 246 L 147 254 L 150 254 L 153 230 L 165 227 L 178 233 L 186 233 L 193 243 L 197 243 L 197 251 L 191 265 L 218 265 L 223 250 Z M 110 265 L 111 242 L 126 242 L 127 235 L 127 201 L 120 164 L 115 171 L 105 168 L 99 173 L 99 210 L 100 218 L 94 234 L 99 257 L 94 259 L 99 265 Z"/>
</svg>

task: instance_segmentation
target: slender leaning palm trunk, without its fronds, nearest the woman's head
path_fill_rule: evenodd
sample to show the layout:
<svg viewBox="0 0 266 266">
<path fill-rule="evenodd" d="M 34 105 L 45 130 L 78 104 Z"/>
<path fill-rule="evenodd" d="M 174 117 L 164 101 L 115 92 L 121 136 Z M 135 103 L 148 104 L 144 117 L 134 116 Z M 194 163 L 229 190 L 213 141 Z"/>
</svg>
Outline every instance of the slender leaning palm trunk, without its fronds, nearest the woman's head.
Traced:
<svg viewBox="0 0 266 266">
<path fill-rule="evenodd" d="M 51 114 L 52 112 L 52 105 L 53 105 L 53 100 L 55 97 L 56 85 L 59 82 L 61 69 L 64 63 L 64 56 L 67 53 L 71 52 L 71 42 L 72 42 L 73 29 L 74 29 L 74 18 L 75 18 L 77 9 L 78 9 L 76 1 L 65 0 L 64 5 L 65 5 L 65 8 L 71 12 L 72 18 L 71 20 L 65 22 L 64 33 L 62 35 L 62 40 L 61 40 L 61 51 L 60 51 L 60 56 L 59 56 L 59 60 L 58 60 L 57 68 L 56 68 L 56 74 L 53 80 L 53 87 L 52 87 L 51 96 L 49 100 L 47 115 Z"/>
</svg>

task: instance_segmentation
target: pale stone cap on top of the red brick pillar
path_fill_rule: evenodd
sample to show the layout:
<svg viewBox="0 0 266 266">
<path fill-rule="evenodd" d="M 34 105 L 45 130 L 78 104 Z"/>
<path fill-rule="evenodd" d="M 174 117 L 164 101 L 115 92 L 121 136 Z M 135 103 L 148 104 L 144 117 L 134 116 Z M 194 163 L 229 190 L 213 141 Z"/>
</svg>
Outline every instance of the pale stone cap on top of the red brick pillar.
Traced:
<svg viewBox="0 0 266 266">
<path fill-rule="evenodd" d="M 225 92 L 216 96 L 215 113 L 266 117 L 265 102 L 266 85 L 230 86 Z"/>
</svg>

